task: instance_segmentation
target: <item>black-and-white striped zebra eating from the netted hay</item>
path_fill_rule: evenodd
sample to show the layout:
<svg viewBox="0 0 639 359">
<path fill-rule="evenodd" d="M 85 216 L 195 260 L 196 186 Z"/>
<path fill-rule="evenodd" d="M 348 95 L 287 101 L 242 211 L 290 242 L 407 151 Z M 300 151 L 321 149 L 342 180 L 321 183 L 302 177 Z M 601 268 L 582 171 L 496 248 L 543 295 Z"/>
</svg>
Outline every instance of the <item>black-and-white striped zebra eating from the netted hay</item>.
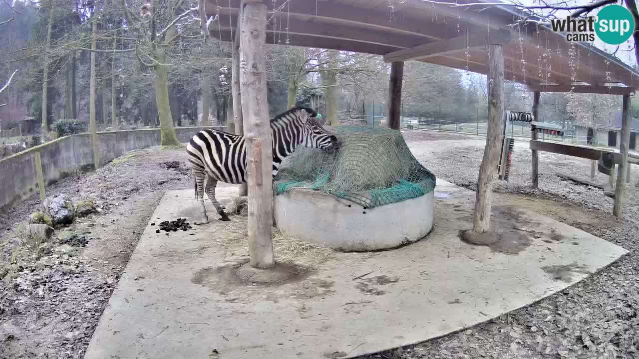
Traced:
<svg viewBox="0 0 639 359">
<path fill-rule="evenodd" d="M 310 115 L 310 116 L 309 116 Z M 318 125 L 317 113 L 306 107 L 293 107 L 270 120 L 273 141 L 273 178 L 282 160 L 298 145 L 329 150 L 337 145 L 337 137 Z M 203 223 L 208 223 L 204 208 L 204 192 L 220 215 L 230 220 L 215 199 L 218 181 L 232 184 L 247 182 L 246 147 L 243 135 L 206 128 L 194 135 L 187 145 L 196 197 L 200 203 Z"/>
</svg>

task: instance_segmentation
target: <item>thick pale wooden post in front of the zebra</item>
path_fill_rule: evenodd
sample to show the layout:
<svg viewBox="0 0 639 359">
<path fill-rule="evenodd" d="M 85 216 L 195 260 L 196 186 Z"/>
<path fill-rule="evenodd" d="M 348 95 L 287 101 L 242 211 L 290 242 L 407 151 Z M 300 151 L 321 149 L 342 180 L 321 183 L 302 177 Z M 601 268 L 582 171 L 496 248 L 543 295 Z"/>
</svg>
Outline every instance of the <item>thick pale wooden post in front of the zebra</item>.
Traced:
<svg viewBox="0 0 639 359">
<path fill-rule="evenodd" d="M 273 147 L 266 102 L 266 5 L 245 0 L 240 19 L 240 93 L 249 172 L 249 256 L 255 268 L 272 268 Z M 258 172 L 259 171 L 259 172 Z"/>
</svg>

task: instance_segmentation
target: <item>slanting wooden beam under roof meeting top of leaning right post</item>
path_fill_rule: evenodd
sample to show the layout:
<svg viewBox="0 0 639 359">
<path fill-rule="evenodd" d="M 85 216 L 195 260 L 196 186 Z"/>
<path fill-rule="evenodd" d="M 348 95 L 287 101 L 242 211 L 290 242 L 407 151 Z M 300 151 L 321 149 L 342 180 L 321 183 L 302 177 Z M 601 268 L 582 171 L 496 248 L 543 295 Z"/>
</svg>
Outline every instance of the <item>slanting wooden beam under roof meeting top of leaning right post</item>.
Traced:
<svg viewBox="0 0 639 359">
<path fill-rule="evenodd" d="M 397 50 L 384 55 L 384 62 L 408 61 L 426 59 L 427 57 L 442 56 L 454 52 L 466 51 L 477 47 L 486 47 L 491 44 L 504 45 L 511 42 L 511 33 L 507 30 L 491 31 L 487 34 L 465 34 L 456 38 L 440 40 L 412 47 L 410 49 Z"/>
</svg>

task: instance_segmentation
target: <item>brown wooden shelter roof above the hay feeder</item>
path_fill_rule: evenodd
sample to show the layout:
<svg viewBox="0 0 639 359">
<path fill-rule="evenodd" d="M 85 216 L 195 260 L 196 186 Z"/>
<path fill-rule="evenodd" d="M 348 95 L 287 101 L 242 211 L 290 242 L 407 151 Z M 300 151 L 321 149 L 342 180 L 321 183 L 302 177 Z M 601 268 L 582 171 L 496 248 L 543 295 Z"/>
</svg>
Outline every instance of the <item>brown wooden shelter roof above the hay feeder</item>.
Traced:
<svg viewBox="0 0 639 359">
<path fill-rule="evenodd" d="M 206 0 L 208 17 L 219 14 L 219 19 L 210 25 L 213 36 L 227 42 L 233 40 L 240 1 Z M 471 1 L 473 5 L 464 5 Z M 489 4 L 477 6 L 488 0 L 471 1 L 265 1 L 266 43 L 377 54 L 388 62 L 407 54 L 410 57 L 410 52 L 416 51 L 414 47 L 431 44 L 426 47 L 435 55 L 415 58 L 417 61 L 485 75 L 486 46 L 470 45 L 481 44 L 481 38 L 492 36 L 507 40 L 506 80 L 528 85 L 639 85 L 638 72 L 603 50 L 568 42 L 565 35 L 531 22 L 535 19 L 530 14 L 523 14 L 510 4 L 496 6 L 497 1 L 489 0 Z M 517 22 L 519 26 L 512 26 Z M 465 41 L 468 46 L 463 44 Z M 398 50 L 406 51 L 397 53 Z"/>
</svg>

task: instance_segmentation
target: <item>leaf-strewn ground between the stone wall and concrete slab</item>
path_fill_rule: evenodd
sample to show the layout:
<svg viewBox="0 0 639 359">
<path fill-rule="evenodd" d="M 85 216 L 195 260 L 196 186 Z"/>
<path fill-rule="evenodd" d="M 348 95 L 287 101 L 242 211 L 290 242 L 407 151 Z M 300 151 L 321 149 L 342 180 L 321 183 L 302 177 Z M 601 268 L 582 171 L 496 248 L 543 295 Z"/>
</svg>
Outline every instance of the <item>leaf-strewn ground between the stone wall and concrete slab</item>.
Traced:
<svg viewBox="0 0 639 359">
<path fill-rule="evenodd" d="M 20 240 L 10 229 L 39 208 L 39 196 L 0 215 L 0 358 L 82 358 L 164 191 L 191 187 L 183 149 L 158 147 L 62 179 L 47 195 L 92 198 L 102 213 L 57 229 L 37 259 L 13 261 L 10 246 Z M 12 261 L 17 273 L 3 280 Z"/>
</svg>

